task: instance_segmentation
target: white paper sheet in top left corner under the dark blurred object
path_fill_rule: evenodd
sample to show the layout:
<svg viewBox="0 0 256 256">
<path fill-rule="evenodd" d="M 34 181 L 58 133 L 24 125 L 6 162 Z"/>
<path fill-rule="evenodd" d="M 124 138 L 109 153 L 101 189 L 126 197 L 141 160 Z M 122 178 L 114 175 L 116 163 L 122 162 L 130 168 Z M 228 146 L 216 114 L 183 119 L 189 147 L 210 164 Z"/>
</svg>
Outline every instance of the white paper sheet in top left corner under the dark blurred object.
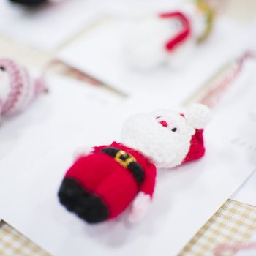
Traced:
<svg viewBox="0 0 256 256">
<path fill-rule="evenodd" d="M 99 3 L 67 0 L 38 9 L 0 2 L 0 33 L 37 48 L 55 50 L 100 17 Z"/>
</svg>

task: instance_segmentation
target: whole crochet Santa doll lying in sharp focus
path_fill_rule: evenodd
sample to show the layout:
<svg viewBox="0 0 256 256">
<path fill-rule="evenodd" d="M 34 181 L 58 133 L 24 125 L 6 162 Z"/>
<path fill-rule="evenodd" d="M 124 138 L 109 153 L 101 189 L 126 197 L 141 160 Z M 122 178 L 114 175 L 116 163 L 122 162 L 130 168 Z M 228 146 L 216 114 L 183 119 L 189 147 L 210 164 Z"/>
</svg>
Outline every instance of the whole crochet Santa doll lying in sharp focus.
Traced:
<svg viewBox="0 0 256 256">
<path fill-rule="evenodd" d="M 187 113 L 160 111 L 132 116 L 121 143 L 89 148 L 69 167 L 59 189 L 67 210 L 89 223 L 113 219 L 132 203 L 129 221 L 146 214 L 153 197 L 156 169 L 171 168 L 205 154 L 205 105 Z"/>
</svg>

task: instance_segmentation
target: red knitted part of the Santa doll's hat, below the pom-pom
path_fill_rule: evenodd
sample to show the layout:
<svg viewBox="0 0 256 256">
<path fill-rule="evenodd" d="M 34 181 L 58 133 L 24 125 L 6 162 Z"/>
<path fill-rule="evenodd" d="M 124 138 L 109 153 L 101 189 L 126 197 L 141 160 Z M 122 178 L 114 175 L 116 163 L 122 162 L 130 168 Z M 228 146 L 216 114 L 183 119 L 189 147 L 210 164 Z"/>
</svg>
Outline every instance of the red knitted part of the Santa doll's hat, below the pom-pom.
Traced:
<svg viewBox="0 0 256 256">
<path fill-rule="evenodd" d="M 205 151 L 206 149 L 203 145 L 203 129 L 195 129 L 195 135 L 190 140 L 189 152 L 182 163 L 203 157 Z"/>
</svg>

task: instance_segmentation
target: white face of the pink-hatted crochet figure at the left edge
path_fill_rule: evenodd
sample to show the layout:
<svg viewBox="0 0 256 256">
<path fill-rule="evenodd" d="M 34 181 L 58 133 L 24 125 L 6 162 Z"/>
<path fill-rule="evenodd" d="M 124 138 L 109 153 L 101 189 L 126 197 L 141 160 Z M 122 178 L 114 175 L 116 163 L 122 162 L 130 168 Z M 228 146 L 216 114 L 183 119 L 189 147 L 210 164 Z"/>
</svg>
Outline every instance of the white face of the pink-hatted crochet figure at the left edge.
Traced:
<svg viewBox="0 0 256 256">
<path fill-rule="evenodd" d="M 7 72 L 6 67 L 3 64 L 0 64 L 0 105 L 6 102 L 7 97 L 10 94 L 10 75 Z"/>
</svg>

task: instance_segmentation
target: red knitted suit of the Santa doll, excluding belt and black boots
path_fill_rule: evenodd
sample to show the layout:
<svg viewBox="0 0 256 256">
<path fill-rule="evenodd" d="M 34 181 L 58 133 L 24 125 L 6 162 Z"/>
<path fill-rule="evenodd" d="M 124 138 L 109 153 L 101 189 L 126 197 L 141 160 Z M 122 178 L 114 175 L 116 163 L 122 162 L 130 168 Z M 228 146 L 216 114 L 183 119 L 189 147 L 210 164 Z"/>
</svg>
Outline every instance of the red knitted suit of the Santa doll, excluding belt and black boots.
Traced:
<svg viewBox="0 0 256 256">
<path fill-rule="evenodd" d="M 145 178 L 140 187 L 127 169 L 113 157 L 102 153 L 102 148 L 107 146 L 95 147 L 93 153 L 80 157 L 65 176 L 78 181 L 86 191 L 100 197 L 108 208 L 108 219 L 121 214 L 138 192 L 142 191 L 152 197 L 156 178 L 156 167 L 143 154 L 121 143 L 113 142 L 110 146 L 132 154 L 143 167 Z"/>
</svg>

